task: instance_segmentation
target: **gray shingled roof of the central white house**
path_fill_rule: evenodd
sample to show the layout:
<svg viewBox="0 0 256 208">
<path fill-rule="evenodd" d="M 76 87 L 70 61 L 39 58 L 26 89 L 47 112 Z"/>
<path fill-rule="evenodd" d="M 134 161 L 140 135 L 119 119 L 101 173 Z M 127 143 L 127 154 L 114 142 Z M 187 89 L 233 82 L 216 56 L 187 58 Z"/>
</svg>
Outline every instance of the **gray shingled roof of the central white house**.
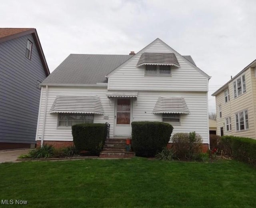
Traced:
<svg viewBox="0 0 256 208">
<path fill-rule="evenodd" d="M 42 84 L 106 83 L 105 76 L 132 56 L 70 54 Z M 184 58 L 194 64 L 191 56 L 184 56 Z"/>
</svg>

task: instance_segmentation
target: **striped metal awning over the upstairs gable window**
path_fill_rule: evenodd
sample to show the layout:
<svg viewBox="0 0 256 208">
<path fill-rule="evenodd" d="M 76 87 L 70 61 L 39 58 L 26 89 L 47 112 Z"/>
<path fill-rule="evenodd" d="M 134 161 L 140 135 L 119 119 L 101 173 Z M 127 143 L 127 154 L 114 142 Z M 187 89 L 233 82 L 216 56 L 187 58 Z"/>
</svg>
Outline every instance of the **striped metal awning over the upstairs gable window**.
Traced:
<svg viewBox="0 0 256 208">
<path fill-rule="evenodd" d="M 142 53 L 137 67 L 143 65 L 167 65 L 180 67 L 174 53 Z"/>
</svg>

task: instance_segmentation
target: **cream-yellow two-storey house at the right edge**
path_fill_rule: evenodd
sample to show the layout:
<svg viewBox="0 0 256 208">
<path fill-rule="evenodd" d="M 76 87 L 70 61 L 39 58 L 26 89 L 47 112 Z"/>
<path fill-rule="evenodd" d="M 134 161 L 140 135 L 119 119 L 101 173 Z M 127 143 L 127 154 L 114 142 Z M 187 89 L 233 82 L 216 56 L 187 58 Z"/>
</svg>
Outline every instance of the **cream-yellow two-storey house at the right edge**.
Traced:
<svg viewBox="0 0 256 208">
<path fill-rule="evenodd" d="M 217 134 L 256 138 L 256 60 L 212 94 Z"/>
</svg>

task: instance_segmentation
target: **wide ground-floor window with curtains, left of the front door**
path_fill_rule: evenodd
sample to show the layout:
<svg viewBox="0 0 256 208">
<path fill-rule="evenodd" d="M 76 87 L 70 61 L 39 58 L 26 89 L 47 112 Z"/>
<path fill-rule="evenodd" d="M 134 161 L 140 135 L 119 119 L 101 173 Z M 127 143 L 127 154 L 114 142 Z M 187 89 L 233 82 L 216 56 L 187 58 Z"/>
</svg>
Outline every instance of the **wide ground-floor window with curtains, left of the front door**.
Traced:
<svg viewBox="0 0 256 208">
<path fill-rule="evenodd" d="M 59 113 L 58 126 L 68 127 L 74 124 L 93 123 L 94 114 L 84 113 Z"/>
</svg>

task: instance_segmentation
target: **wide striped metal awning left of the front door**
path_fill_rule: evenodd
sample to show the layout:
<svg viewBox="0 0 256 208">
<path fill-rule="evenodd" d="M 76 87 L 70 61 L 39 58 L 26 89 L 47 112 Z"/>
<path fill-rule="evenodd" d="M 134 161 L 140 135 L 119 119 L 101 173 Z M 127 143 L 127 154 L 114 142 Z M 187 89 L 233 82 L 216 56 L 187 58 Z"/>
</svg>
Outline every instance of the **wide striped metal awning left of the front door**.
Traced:
<svg viewBox="0 0 256 208">
<path fill-rule="evenodd" d="M 104 114 L 100 97 L 58 95 L 50 109 L 50 113 L 88 113 Z"/>
</svg>

